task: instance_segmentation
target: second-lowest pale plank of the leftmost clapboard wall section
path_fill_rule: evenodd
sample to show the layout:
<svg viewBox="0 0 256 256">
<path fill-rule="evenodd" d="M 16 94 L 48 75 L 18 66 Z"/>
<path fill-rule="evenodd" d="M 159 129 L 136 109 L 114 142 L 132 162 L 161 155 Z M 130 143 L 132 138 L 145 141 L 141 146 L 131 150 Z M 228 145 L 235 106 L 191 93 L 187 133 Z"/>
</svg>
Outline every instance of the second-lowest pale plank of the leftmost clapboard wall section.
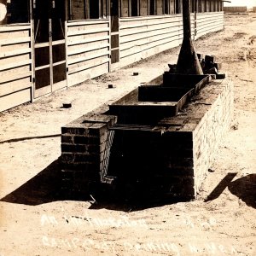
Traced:
<svg viewBox="0 0 256 256">
<path fill-rule="evenodd" d="M 24 90 L 29 87 L 32 87 L 30 77 L 17 79 L 5 84 L 0 84 L 0 97 L 14 93 L 15 91 Z"/>
</svg>

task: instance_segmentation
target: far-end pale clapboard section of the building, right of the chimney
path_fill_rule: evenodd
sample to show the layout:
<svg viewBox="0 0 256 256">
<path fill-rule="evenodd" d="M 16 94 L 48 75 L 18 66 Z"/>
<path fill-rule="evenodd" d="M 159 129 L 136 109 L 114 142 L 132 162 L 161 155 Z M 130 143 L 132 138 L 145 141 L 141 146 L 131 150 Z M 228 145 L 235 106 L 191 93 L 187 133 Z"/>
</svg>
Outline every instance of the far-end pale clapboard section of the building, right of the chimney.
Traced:
<svg viewBox="0 0 256 256">
<path fill-rule="evenodd" d="M 197 14 L 195 39 L 224 29 L 224 12 Z"/>
</svg>

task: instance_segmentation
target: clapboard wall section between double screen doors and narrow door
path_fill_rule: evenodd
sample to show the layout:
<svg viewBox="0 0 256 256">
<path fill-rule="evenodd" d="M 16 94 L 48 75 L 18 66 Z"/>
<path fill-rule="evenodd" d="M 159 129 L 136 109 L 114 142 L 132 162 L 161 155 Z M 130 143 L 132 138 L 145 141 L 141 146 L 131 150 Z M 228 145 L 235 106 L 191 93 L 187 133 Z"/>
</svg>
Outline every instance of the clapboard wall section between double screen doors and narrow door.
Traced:
<svg viewBox="0 0 256 256">
<path fill-rule="evenodd" d="M 109 20 L 67 22 L 68 86 L 108 73 L 109 34 Z"/>
</svg>

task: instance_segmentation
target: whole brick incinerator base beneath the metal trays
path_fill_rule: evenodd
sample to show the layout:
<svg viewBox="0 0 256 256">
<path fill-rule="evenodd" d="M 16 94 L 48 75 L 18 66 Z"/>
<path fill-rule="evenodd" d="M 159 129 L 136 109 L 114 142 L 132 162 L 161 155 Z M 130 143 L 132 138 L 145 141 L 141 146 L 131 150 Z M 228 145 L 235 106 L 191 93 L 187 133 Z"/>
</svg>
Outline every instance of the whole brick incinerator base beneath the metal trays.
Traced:
<svg viewBox="0 0 256 256">
<path fill-rule="evenodd" d="M 140 180 L 142 191 L 195 199 L 233 118 L 233 84 L 212 80 L 177 116 L 143 131 L 109 127 L 108 105 L 62 127 L 63 188 Z M 106 177 L 107 176 L 107 177 Z"/>
</svg>

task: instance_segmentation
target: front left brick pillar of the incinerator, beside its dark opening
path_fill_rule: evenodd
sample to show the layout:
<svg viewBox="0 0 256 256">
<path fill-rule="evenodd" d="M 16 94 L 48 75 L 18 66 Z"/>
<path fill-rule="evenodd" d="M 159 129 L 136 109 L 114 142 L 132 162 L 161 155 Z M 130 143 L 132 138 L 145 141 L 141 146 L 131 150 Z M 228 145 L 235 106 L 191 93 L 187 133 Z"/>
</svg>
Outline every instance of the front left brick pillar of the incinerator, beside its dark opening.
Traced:
<svg viewBox="0 0 256 256">
<path fill-rule="evenodd" d="M 108 126 L 114 122 L 115 116 L 91 112 L 61 127 L 62 189 L 84 192 L 101 182 L 113 137 Z"/>
</svg>

